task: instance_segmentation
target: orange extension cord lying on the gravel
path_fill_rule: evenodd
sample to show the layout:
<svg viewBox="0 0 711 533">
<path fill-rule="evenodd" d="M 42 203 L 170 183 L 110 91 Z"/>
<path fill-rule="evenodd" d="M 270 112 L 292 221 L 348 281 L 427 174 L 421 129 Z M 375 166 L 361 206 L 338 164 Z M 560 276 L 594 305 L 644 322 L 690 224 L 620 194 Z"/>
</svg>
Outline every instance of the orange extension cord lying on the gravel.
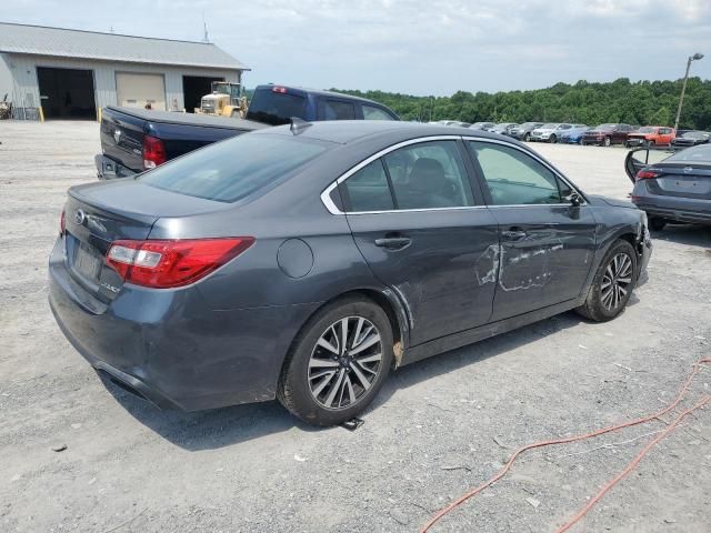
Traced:
<svg viewBox="0 0 711 533">
<path fill-rule="evenodd" d="M 487 489 L 488 486 L 491 486 L 493 483 L 495 483 L 497 481 L 499 481 L 501 477 L 503 477 L 507 472 L 509 472 L 509 470 L 511 469 L 511 465 L 513 464 L 513 462 L 518 459 L 519 455 L 521 455 L 523 452 L 528 451 L 528 450 L 532 450 L 534 447 L 543 447 L 543 446 L 550 446 L 552 444 L 565 444 L 569 442 L 577 442 L 577 441 L 582 441 L 585 439 L 591 439 L 593 436 L 598 436 L 598 435 L 602 435 L 604 433 L 609 433 L 611 431 L 617 431 L 617 430 L 621 430 L 622 428 L 630 428 L 632 425 L 639 425 L 639 424 L 643 424 L 644 422 L 649 422 L 651 420 L 654 419 L 659 419 L 660 416 L 667 414 L 668 412 L 670 412 L 671 410 L 673 410 L 677 405 L 679 405 L 679 403 L 683 400 L 683 398 L 687 394 L 687 391 L 689 390 L 689 386 L 691 385 L 691 381 L 693 380 L 693 378 L 701 371 L 701 368 L 703 364 L 709 364 L 711 363 L 711 359 L 700 359 L 699 361 L 697 361 L 693 364 L 693 370 L 691 371 L 691 374 L 689 375 L 689 378 L 687 379 L 687 381 L 684 381 L 683 385 L 681 386 L 679 394 L 677 395 L 677 398 L 674 399 L 673 402 L 671 402 L 667 408 L 662 409 L 661 411 L 650 414 L 649 416 L 642 416 L 641 419 L 634 419 L 634 420 L 630 420 L 628 422 L 623 422 L 621 424 L 617 424 L 617 425 L 610 425 L 607 428 L 602 428 L 600 430 L 595 430 L 592 431 L 590 433 L 585 433 L 582 435 L 574 435 L 574 436 L 568 436 L 564 439 L 554 439 L 551 441 L 540 441 L 540 442 L 534 442 L 533 444 L 528 444 L 523 447 L 520 447 L 519 450 L 517 450 L 513 455 L 511 455 L 511 459 L 509 459 L 509 461 L 507 462 L 507 464 L 503 466 L 503 469 L 501 469 L 495 475 L 493 475 L 491 479 L 489 479 L 488 481 L 485 481 L 484 483 L 482 483 L 481 485 L 479 485 L 478 487 L 471 490 L 470 492 L 463 494 L 462 496 L 460 496 L 459 499 L 457 499 L 455 501 L 453 501 L 452 503 L 450 503 L 448 506 L 445 506 L 444 509 L 442 509 L 441 511 L 439 511 L 434 516 L 432 516 L 430 519 L 430 521 L 424 525 L 424 527 L 422 527 L 422 530 L 420 530 L 420 533 L 427 533 L 437 522 L 439 522 L 442 516 L 444 516 L 447 513 L 449 513 L 450 511 L 454 510 L 455 507 L 458 507 L 459 505 L 461 505 L 462 503 L 464 503 L 467 500 L 469 500 L 470 497 L 479 494 L 481 491 L 483 491 L 484 489 Z M 563 533 L 565 531 L 568 531 L 570 527 L 572 527 L 575 523 L 578 523 L 593 506 L 595 503 L 598 503 L 598 501 L 600 501 L 600 499 L 602 496 L 604 496 L 604 494 L 612 489 L 620 480 L 622 480 L 625 475 L 628 475 L 632 470 L 634 470 L 634 467 L 639 464 L 639 462 L 642 460 L 642 457 L 644 455 L 647 455 L 647 453 L 654 447 L 654 445 L 657 443 L 659 443 L 659 441 L 661 441 L 662 439 L 664 439 L 667 435 L 669 435 L 669 433 L 671 433 L 678 425 L 679 423 L 685 419 L 688 415 L 690 415 L 692 412 L 694 412 L 698 409 L 703 408 L 705 404 L 711 403 L 711 395 L 707 394 L 705 396 L 703 396 L 703 399 L 697 403 L 695 405 L 693 405 L 692 408 L 683 411 L 682 413 L 680 413 L 672 422 L 669 423 L 669 425 L 667 426 L 667 429 L 661 432 L 659 435 L 657 435 L 652 441 L 650 441 L 643 449 L 642 451 L 630 462 L 628 463 L 628 465 L 622 470 L 622 472 L 620 472 L 618 475 L 615 475 L 612 480 L 610 480 L 601 490 L 600 492 L 598 492 L 598 494 L 595 494 L 594 497 L 592 497 L 590 500 L 590 502 L 588 502 L 587 505 L 584 505 L 571 520 L 569 520 L 568 522 L 565 522 L 565 524 L 563 524 L 562 526 L 560 526 L 555 533 Z"/>
</svg>

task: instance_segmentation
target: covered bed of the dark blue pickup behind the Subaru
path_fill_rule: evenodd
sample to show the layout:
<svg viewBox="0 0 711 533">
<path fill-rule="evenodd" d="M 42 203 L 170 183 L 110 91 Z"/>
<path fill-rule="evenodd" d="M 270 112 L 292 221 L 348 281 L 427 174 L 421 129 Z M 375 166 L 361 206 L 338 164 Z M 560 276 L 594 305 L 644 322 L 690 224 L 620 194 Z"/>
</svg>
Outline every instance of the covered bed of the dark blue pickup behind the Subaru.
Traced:
<svg viewBox="0 0 711 533">
<path fill-rule="evenodd" d="M 269 128 L 251 120 L 148 111 L 109 105 L 101 117 L 101 154 L 96 157 L 99 178 L 123 178 L 142 172 L 147 142 L 160 141 L 164 160 L 222 139 Z M 149 139 L 147 140 L 147 135 Z"/>
</svg>

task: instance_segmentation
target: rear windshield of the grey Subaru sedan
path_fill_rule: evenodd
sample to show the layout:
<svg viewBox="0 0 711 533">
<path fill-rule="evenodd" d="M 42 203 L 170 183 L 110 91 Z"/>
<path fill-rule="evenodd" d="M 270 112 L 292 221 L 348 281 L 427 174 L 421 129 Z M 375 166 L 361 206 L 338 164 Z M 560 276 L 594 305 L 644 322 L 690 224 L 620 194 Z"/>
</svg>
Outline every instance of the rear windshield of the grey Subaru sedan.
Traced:
<svg viewBox="0 0 711 533">
<path fill-rule="evenodd" d="M 314 141 L 244 134 L 162 164 L 139 179 L 189 197 L 236 202 L 281 180 L 327 150 Z"/>
</svg>

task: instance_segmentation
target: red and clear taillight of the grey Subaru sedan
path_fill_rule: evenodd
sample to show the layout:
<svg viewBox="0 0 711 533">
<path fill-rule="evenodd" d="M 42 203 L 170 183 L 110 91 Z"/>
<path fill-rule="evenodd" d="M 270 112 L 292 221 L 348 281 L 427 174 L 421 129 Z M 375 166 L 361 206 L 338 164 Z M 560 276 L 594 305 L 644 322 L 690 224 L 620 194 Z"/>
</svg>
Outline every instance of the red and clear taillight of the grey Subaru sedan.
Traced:
<svg viewBox="0 0 711 533">
<path fill-rule="evenodd" d="M 214 272 L 253 242 L 253 237 L 116 241 L 107 253 L 107 263 L 128 283 L 170 289 Z"/>
</svg>

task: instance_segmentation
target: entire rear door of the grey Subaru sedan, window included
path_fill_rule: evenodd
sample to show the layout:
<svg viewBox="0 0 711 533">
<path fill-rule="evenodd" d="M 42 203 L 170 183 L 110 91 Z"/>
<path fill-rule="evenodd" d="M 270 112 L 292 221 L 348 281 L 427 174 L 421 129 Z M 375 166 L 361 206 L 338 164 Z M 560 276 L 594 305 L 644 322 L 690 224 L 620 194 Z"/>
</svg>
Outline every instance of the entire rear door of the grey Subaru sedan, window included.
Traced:
<svg viewBox="0 0 711 533">
<path fill-rule="evenodd" d="M 361 254 L 408 310 L 412 345 L 491 316 L 498 227 L 473 194 L 462 149 L 450 137 L 408 141 L 339 187 Z"/>
</svg>

